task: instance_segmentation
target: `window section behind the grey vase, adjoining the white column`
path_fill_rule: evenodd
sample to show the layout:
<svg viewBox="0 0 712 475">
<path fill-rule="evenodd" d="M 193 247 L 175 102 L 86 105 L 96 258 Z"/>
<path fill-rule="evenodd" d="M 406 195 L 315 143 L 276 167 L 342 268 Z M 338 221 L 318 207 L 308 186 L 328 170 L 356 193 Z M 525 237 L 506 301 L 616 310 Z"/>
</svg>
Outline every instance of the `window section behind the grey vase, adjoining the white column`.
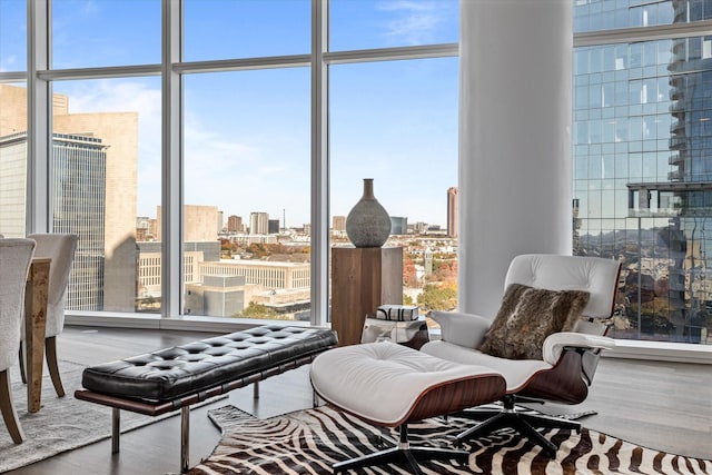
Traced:
<svg viewBox="0 0 712 475">
<path fill-rule="evenodd" d="M 458 40 L 457 1 L 330 2 L 329 50 Z M 348 243 L 346 217 L 363 178 L 392 218 L 386 246 L 404 253 L 404 303 L 422 311 L 457 305 L 457 228 L 448 190 L 457 187 L 456 57 L 329 67 L 330 243 Z M 340 57 L 337 57 L 340 58 Z M 453 195 L 453 192 L 451 192 Z M 451 208 L 456 208 L 455 200 Z"/>
</svg>

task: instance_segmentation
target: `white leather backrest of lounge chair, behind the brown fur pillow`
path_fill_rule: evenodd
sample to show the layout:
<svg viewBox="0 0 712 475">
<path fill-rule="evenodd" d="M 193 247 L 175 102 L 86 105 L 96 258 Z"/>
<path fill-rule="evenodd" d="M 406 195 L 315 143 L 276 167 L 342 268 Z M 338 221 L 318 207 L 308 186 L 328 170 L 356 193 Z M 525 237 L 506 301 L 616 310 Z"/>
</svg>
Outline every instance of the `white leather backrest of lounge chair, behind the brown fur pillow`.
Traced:
<svg viewBox="0 0 712 475">
<path fill-rule="evenodd" d="M 523 284 L 547 290 L 585 290 L 591 294 L 583 316 L 607 318 L 613 314 L 621 264 L 601 257 L 525 254 L 510 264 L 504 288 Z"/>
</svg>

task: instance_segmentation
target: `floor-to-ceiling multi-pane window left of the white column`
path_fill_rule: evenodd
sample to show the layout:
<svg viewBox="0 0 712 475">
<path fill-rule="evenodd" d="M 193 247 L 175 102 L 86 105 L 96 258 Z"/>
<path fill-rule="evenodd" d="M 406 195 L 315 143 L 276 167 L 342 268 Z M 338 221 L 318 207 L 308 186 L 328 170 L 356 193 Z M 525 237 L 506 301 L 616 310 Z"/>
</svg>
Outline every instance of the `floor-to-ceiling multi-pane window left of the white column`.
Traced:
<svg viewBox="0 0 712 475">
<path fill-rule="evenodd" d="M 455 285 L 457 40 L 456 0 L 2 1 L 0 232 L 78 234 L 85 317 L 325 323 L 372 176 L 407 298 L 433 301 Z"/>
</svg>

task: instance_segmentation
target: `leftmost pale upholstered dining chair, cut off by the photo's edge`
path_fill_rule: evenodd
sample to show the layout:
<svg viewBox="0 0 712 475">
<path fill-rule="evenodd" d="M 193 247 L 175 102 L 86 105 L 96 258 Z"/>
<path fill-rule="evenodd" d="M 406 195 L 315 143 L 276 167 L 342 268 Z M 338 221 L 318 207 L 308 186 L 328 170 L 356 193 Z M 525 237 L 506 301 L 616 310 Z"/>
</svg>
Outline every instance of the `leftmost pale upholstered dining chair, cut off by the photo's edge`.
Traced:
<svg viewBox="0 0 712 475">
<path fill-rule="evenodd" d="M 24 439 L 24 433 L 12 404 L 9 368 L 20 347 L 24 287 L 33 253 L 31 239 L 0 239 L 0 410 L 16 444 Z"/>
</svg>

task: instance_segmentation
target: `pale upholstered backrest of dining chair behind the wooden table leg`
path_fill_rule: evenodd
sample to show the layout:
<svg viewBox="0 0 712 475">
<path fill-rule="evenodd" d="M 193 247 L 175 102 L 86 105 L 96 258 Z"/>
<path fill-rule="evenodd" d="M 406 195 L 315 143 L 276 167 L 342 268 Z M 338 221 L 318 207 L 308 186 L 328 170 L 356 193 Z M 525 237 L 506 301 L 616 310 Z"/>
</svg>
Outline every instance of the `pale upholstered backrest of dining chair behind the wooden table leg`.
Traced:
<svg viewBox="0 0 712 475">
<path fill-rule="evenodd" d="M 34 234 L 28 239 L 37 243 L 34 257 L 50 258 L 49 290 L 47 296 L 47 337 L 57 336 L 65 326 L 65 303 L 69 273 L 75 261 L 77 235 Z"/>
</svg>

